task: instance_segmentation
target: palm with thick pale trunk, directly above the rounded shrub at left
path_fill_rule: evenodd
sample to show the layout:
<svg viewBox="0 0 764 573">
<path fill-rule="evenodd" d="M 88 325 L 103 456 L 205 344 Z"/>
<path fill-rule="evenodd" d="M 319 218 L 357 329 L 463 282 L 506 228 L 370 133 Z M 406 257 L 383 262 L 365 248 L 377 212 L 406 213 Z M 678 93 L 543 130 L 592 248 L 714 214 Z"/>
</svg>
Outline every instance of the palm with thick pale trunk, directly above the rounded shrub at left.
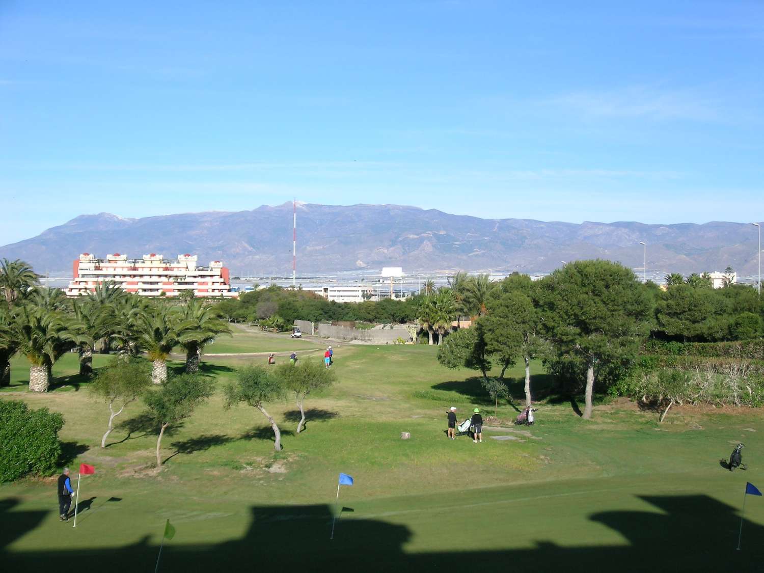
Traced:
<svg viewBox="0 0 764 573">
<path fill-rule="evenodd" d="M 29 361 L 29 390 L 47 392 L 53 364 L 81 338 L 82 326 L 63 312 L 19 306 L 11 317 L 11 335 Z"/>
</svg>

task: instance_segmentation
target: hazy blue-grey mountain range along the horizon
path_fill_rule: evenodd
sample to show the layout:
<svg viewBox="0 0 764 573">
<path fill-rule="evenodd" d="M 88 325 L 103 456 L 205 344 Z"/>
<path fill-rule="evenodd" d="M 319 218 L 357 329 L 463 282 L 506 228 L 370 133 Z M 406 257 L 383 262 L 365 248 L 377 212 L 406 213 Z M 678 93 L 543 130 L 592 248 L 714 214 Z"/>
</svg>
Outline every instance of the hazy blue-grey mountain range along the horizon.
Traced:
<svg viewBox="0 0 764 573">
<path fill-rule="evenodd" d="M 201 212 L 124 219 L 110 213 L 80 215 L 37 237 L 0 247 L 0 257 L 21 258 L 38 272 L 70 273 L 88 252 L 104 257 L 147 253 L 224 261 L 234 274 L 287 274 L 292 269 L 293 204 L 241 212 Z M 756 228 L 734 222 L 703 225 L 639 222 L 541 222 L 480 219 L 397 205 L 328 206 L 298 203 L 297 271 L 403 267 L 404 272 L 520 270 L 543 273 L 562 261 L 605 258 L 643 267 L 648 274 L 724 270 L 756 273 Z"/>
</svg>

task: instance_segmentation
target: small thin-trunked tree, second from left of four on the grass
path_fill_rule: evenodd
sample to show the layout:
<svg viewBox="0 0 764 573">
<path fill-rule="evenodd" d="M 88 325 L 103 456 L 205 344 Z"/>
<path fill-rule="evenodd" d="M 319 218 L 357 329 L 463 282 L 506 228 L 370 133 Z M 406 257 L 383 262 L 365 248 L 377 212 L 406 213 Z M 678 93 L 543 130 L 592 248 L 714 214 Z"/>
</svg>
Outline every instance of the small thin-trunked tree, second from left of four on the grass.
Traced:
<svg viewBox="0 0 764 573">
<path fill-rule="evenodd" d="M 180 374 L 167 378 L 160 387 L 144 396 L 149 412 L 159 426 L 157 468 L 162 466 L 160 448 L 164 432 L 191 416 L 196 406 L 212 396 L 213 391 L 212 380 L 199 374 Z"/>
</svg>

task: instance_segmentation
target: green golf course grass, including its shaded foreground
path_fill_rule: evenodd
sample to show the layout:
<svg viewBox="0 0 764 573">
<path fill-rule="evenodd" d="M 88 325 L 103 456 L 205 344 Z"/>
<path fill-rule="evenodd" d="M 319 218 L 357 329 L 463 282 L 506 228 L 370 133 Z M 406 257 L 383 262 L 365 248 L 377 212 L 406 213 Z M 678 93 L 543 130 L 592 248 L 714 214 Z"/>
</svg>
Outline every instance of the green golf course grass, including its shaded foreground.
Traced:
<svg viewBox="0 0 764 573">
<path fill-rule="evenodd" d="M 269 408 L 283 452 L 273 452 L 260 413 L 225 411 L 216 393 L 163 440 L 168 459 L 158 473 L 156 429 L 145 425 L 140 404 L 102 450 L 108 410 L 89 399 L 86 382 L 45 395 L 4 393 L 0 399 L 62 412 L 71 465 L 84 461 L 97 473 L 83 479 L 88 509 L 76 529 L 58 521 L 53 481 L 0 487 L 2 563 L 151 571 L 169 518 L 177 533 L 164 545 L 161 571 L 760 570 L 761 497 L 747 500 L 743 550 L 735 551 L 746 480 L 764 487 L 758 412 L 678 409 L 659 426 L 654 413 L 617 401 L 585 422 L 552 396 L 530 429 L 511 426 L 516 411 L 500 406 L 484 443 L 452 442 L 448 406 L 460 418 L 488 406 L 473 373 L 440 367 L 426 346 L 343 346 L 335 359 L 339 382 L 309 398 L 304 434 L 293 435 L 292 403 Z M 220 387 L 248 360 L 208 357 L 205 370 Z M 14 361 L 15 384 L 23 367 Z M 75 369 L 76 357 L 57 364 L 61 376 Z M 533 370 L 543 390 L 549 380 L 540 364 Z M 521 393 L 519 382 L 513 391 Z M 749 470 L 730 473 L 719 461 L 738 441 Z M 355 484 L 342 487 L 335 506 L 340 471 Z"/>
</svg>

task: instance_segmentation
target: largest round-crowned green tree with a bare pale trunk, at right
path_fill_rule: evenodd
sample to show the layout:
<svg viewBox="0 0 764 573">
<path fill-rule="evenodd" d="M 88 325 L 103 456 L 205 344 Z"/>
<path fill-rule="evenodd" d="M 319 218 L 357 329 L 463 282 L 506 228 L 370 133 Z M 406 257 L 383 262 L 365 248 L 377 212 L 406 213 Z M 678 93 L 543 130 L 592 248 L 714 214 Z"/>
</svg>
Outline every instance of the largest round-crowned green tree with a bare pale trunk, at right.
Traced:
<svg viewBox="0 0 764 573">
<path fill-rule="evenodd" d="M 558 358 L 586 367 L 584 418 L 591 418 L 594 375 L 610 362 L 630 362 L 649 328 L 649 300 L 633 271 L 610 261 L 575 261 L 540 281 L 546 336 Z"/>
</svg>

